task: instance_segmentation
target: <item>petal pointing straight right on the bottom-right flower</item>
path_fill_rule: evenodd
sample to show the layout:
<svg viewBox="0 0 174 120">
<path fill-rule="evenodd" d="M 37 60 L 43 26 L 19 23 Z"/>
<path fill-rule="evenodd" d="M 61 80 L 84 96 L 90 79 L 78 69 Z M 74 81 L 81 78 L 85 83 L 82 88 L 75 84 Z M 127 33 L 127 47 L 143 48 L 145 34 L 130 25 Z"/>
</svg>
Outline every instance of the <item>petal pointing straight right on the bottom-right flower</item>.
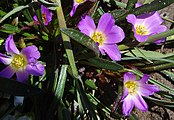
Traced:
<svg viewBox="0 0 174 120">
<path fill-rule="evenodd" d="M 138 87 L 138 91 L 142 96 L 153 95 L 154 92 L 158 92 L 159 88 L 156 85 L 142 84 Z"/>
</svg>

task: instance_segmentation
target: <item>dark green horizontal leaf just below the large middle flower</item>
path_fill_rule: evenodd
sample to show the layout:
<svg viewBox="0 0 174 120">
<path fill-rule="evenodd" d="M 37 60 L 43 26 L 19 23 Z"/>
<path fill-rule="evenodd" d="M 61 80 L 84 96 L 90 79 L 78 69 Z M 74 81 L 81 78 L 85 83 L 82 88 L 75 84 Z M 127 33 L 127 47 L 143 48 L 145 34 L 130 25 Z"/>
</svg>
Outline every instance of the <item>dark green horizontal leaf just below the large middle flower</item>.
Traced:
<svg viewBox="0 0 174 120">
<path fill-rule="evenodd" d="M 98 68 L 103 68 L 103 69 L 108 69 L 108 70 L 123 70 L 123 66 L 121 66 L 118 63 L 111 62 L 109 60 L 101 59 L 101 58 L 90 58 L 88 59 L 88 65 L 98 67 Z"/>
</svg>

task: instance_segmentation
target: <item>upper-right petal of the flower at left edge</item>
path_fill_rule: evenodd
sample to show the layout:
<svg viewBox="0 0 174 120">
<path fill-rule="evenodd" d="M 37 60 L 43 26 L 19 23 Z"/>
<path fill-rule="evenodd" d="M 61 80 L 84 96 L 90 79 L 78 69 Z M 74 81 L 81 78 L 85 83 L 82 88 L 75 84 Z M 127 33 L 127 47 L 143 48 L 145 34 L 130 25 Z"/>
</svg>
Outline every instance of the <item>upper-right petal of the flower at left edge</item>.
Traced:
<svg viewBox="0 0 174 120">
<path fill-rule="evenodd" d="M 38 48 L 35 45 L 28 46 L 26 48 L 23 48 L 21 53 L 25 55 L 25 57 L 29 60 L 30 58 L 39 59 L 40 58 L 40 52 L 38 51 Z"/>
</svg>

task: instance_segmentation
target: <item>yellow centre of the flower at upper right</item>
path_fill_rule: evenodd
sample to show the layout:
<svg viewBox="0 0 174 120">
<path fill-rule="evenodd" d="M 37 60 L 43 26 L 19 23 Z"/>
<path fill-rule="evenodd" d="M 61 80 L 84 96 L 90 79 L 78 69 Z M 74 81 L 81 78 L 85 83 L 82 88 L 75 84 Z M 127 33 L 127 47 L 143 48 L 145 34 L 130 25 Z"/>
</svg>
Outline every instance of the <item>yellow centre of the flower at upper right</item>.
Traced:
<svg viewBox="0 0 174 120">
<path fill-rule="evenodd" d="M 135 30 L 139 35 L 147 35 L 149 32 L 144 25 L 136 25 Z"/>
</svg>

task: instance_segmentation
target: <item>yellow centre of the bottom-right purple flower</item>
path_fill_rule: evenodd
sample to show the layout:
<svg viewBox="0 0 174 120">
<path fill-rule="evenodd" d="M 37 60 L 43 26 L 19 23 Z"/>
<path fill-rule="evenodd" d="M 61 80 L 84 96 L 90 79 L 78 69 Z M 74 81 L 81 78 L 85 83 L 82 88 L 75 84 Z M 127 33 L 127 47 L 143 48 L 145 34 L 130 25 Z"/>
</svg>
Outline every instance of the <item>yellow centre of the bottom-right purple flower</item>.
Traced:
<svg viewBox="0 0 174 120">
<path fill-rule="evenodd" d="M 127 81 L 125 86 L 127 87 L 130 94 L 136 93 L 137 83 L 135 81 Z"/>
</svg>

